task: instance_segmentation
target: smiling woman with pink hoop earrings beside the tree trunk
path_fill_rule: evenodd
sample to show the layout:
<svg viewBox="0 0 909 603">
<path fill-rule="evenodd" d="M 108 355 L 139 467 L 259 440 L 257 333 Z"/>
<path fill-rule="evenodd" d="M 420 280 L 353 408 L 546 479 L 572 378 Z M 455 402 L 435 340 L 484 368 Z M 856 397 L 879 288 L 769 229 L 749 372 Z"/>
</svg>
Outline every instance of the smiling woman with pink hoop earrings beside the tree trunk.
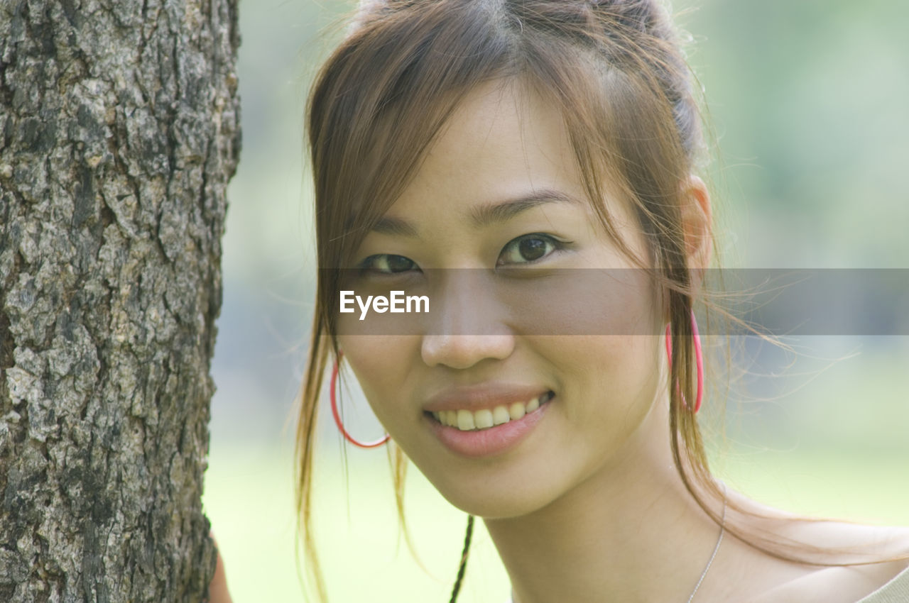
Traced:
<svg viewBox="0 0 909 603">
<path fill-rule="evenodd" d="M 320 597 L 315 413 L 346 364 L 382 443 L 470 516 L 452 601 L 474 516 L 514 603 L 909 600 L 906 529 L 791 516 L 707 468 L 693 309 L 714 308 L 714 239 L 691 80 L 651 1 L 362 8 L 308 107 L 298 500 Z M 428 311 L 364 303 L 393 291 Z"/>
</svg>

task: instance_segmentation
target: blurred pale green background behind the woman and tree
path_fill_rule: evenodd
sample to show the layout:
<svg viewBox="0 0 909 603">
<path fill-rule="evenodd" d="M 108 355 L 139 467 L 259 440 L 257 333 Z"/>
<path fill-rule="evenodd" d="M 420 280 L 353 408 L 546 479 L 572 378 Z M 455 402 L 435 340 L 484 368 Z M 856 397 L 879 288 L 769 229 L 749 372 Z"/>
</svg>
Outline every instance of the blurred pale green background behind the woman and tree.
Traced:
<svg viewBox="0 0 909 603">
<path fill-rule="evenodd" d="M 307 600 L 292 472 L 315 276 L 302 113 L 337 39 L 319 32 L 349 7 L 241 2 L 244 148 L 229 191 L 203 499 L 236 603 Z M 725 265 L 909 268 L 909 3 L 705 0 L 674 11 L 694 36 L 689 60 L 719 145 L 710 175 Z M 806 337 L 789 341 L 792 353 L 735 343 L 746 372 L 713 446 L 727 483 L 785 509 L 909 525 L 909 337 Z M 363 400 L 347 414 L 360 437 L 381 433 Z M 447 600 L 464 513 L 412 468 L 421 568 L 400 536 L 385 453 L 348 447 L 345 473 L 325 420 L 319 442 L 314 517 L 332 600 Z M 460 600 L 502 603 L 507 578 L 478 526 Z"/>
</svg>

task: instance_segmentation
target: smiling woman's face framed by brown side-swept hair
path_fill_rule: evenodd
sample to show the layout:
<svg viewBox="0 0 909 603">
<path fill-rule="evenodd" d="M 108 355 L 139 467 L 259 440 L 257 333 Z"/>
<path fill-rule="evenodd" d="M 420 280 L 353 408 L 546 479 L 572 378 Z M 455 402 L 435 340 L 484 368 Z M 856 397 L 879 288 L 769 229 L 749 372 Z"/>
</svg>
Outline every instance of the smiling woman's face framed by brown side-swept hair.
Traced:
<svg viewBox="0 0 909 603">
<path fill-rule="evenodd" d="M 469 513 L 540 509 L 665 437 L 645 420 L 664 383 L 654 288 L 590 270 L 633 264 L 586 199 L 558 112 L 484 84 L 356 255 L 360 285 L 428 292 L 432 312 L 397 319 L 419 325 L 401 335 L 339 314 L 340 349 L 385 430 Z M 604 203 L 645 258 L 627 204 Z"/>
</svg>

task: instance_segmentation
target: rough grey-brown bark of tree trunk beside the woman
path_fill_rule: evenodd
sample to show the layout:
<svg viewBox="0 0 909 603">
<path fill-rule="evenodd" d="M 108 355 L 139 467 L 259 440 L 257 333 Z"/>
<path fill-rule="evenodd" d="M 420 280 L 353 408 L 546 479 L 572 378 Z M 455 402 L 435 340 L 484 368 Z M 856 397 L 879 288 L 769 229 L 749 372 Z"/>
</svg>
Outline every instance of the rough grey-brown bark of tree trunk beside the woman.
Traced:
<svg viewBox="0 0 909 603">
<path fill-rule="evenodd" d="M 236 0 L 0 2 L 0 601 L 199 601 Z"/>
</svg>

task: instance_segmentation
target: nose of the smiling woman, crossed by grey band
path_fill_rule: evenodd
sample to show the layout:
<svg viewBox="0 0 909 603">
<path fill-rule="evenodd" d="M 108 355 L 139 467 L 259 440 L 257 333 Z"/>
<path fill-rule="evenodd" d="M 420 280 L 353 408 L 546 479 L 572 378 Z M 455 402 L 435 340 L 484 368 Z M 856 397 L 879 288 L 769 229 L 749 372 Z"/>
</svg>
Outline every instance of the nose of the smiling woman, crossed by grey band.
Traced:
<svg viewBox="0 0 909 603">
<path fill-rule="evenodd" d="M 490 288 L 474 274 L 464 282 L 468 272 L 446 279 L 445 294 L 436 297 L 438 312 L 420 349 L 427 366 L 468 369 L 487 359 L 504 360 L 514 351 L 514 333 L 499 318 L 503 312 Z"/>
</svg>

